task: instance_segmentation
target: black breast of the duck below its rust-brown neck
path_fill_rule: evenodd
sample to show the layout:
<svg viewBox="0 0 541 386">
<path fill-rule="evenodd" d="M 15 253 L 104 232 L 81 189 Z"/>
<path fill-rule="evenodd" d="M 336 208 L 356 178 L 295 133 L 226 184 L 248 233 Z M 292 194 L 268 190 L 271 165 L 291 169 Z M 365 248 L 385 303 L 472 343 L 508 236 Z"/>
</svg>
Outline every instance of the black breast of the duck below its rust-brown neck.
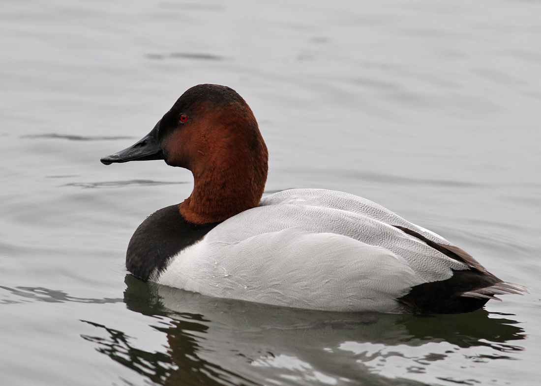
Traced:
<svg viewBox="0 0 541 386">
<path fill-rule="evenodd" d="M 177 205 L 160 209 L 148 216 L 131 236 L 126 268 L 138 279 L 148 281 L 167 267 L 170 258 L 201 240 L 218 224 L 188 222 Z"/>
</svg>

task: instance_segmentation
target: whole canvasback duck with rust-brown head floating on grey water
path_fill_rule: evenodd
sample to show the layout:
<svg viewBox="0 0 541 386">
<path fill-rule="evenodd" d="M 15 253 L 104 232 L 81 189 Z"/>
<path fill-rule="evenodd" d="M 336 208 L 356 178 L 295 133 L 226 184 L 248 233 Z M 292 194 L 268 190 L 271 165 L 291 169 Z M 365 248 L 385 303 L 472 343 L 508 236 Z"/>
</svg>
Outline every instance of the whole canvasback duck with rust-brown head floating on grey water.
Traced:
<svg viewBox="0 0 541 386">
<path fill-rule="evenodd" d="M 370 200 L 325 189 L 261 199 L 267 147 L 229 87 L 192 87 L 146 137 L 101 159 L 143 160 L 187 168 L 194 189 L 131 237 L 126 267 L 140 280 L 277 306 L 391 313 L 463 313 L 526 291 Z"/>
</svg>

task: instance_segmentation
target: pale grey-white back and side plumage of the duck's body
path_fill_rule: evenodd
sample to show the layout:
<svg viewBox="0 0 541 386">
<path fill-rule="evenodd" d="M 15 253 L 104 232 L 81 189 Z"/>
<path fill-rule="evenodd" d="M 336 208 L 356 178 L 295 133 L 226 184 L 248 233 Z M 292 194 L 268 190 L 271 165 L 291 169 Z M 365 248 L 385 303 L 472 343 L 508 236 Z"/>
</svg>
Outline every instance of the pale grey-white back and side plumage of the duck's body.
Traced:
<svg viewBox="0 0 541 386">
<path fill-rule="evenodd" d="M 467 266 L 396 225 L 450 245 L 352 194 L 283 191 L 216 226 L 153 281 L 278 306 L 398 312 L 396 299 L 411 287 Z"/>
</svg>

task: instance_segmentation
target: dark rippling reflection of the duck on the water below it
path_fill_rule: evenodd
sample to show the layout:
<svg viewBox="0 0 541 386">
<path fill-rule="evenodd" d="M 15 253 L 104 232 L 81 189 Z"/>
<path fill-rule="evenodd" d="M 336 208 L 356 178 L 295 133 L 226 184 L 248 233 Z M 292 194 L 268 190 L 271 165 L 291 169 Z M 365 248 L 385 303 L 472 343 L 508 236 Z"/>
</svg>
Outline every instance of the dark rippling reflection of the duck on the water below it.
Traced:
<svg viewBox="0 0 541 386">
<path fill-rule="evenodd" d="M 526 337 L 516 321 L 506 315 L 489 317 L 485 310 L 451 315 L 332 313 L 210 298 L 142 283 L 130 275 L 126 283 L 129 309 L 167 320 L 166 327 L 153 326 L 167 334 L 167 351 L 137 349 L 121 331 L 94 322 L 88 323 L 105 331 L 104 336 L 83 338 L 163 385 L 417 385 L 421 383 L 414 381 L 414 373 L 423 373 L 431 362 L 464 356 L 465 348 L 485 348 L 473 361 L 516 359 L 523 349 L 510 342 Z M 381 368 L 374 371 L 375 362 L 393 355 L 408 361 L 406 373 L 412 380 L 385 377 Z"/>
</svg>

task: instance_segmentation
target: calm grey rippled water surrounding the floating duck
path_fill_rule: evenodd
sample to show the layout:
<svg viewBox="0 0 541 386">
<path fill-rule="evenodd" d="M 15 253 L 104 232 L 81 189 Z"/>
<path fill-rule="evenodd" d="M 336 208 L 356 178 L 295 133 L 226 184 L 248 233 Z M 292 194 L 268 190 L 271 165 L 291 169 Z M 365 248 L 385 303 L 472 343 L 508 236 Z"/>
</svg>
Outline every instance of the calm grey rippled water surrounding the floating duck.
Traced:
<svg viewBox="0 0 541 386">
<path fill-rule="evenodd" d="M 2 384 L 538 384 L 539 2 L 0 10 Z M 254 110 L 267 193 L 372 199 L 531 293 L 464 315 L 339 314 L 126 276 L 134 229 L 186 198 L 192 177 L 99 159 L 199 83 Z"/>
</svg>

